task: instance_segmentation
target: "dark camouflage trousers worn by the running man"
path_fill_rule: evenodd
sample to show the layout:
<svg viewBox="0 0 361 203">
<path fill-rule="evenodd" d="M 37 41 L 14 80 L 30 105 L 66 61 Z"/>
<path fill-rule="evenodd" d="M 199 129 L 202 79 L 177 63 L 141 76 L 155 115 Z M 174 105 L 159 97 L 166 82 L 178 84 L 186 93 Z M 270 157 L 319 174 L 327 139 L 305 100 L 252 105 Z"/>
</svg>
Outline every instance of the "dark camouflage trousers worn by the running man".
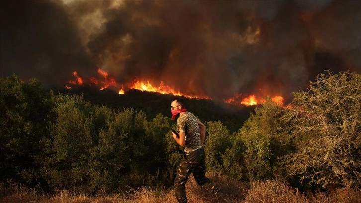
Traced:
<svg viewBox="0 0 361 203">
<path fill-rule="evenodd" d="M 208 192 L 217 195 L 219 189 L 205 177 L 205 154 L 204 148 L 185 153 L 184 159 L 178 168 L 176 178 L 174 180 L 175 195 L 180 203 L 187 203 L 185 196 L 185 183 L 189 175 L 193 173 L 195 181 L 199 186 Z"/>
</svg>

